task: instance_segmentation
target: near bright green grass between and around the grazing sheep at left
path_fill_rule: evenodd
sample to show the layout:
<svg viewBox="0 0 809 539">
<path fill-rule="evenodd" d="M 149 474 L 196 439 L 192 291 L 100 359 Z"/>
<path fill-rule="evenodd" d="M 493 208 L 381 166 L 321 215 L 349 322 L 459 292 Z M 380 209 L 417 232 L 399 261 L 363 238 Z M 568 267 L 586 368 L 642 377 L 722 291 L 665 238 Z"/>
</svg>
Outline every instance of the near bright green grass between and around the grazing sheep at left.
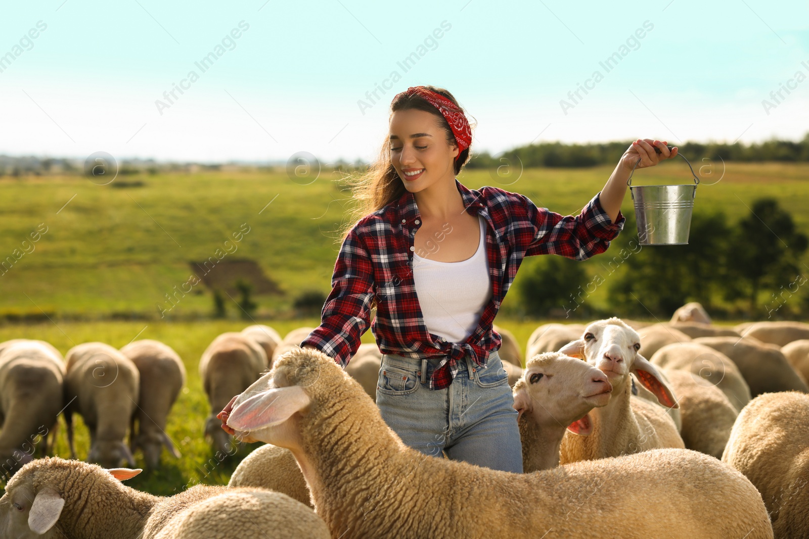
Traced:
<svg viewBox="0 0 809 539">
<path fill-rule="evenodd" d="M 296 327 L 316 326 L 319 323 L 316 318 L 281 322 L 259 320 L 258 322 L 272 326 L 282 336 Z M 536 326 L 551 321 L 516 322 L 498 316 L 495 322 L 514 333 L 524 354 L 525 343 Z M 133 488 L 155 495 L 173 495 L 199 482 L 211 485 L 227 484 L 239 461 L 260 445 L 245 444 L 235 456 L 220 460 L 202 436 L 205 417 L 210 411 L 210 406 L 197 372 L 200 356 L 217 335 L 225 331 L 241 331 L 247 325 L 248 323 L 235 321 L 61 321 L 57 324 L 44 322 L 0 326 L 0 342 L 17 338 L 43 339 L 53 343 L 64 355 L 75 344 L 89 341 L 102 341 L 120 348 L 137 335 L 138 339 L 157 339 L 174 348 L 183 359 L 188 381 L 169 415 L 167 434 L 172 438 L 182 456 L 180 459 L 175 459 L 167 451 L 163 451 L 159 470 L 150 473 L 144 471 L 126 482 Z M 371 331 L 366 331 L 366 334 L 362 336 L 362 342 L 374 342 Z M 55 454 L 58 457 L 70 458 L 64 419 L 60 417 L 58 423 Z M 86 458 L 90 448 L 90 438 L 79 415 L 74 415 L 74 430 L 77 457 Z M 135 453 L 135 460 L 138 467 L 145 466 L 142 453 Z"/>
</svg>

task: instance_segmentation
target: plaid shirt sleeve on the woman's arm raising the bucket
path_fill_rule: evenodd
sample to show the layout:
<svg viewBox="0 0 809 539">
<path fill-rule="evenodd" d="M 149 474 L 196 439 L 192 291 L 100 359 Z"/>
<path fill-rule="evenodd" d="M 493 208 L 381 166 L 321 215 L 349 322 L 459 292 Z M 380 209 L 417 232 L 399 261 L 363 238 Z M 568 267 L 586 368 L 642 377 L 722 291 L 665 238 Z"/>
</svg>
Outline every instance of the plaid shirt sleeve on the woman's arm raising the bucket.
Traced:
<svg viewBox="0 0 809 539">
<path fill-rule="evenodd" d="M 534 229 L 526 256 L 561 255 L 568 259 L 587 260 L 607 251 L 609 242 L 624 229 L 626 217 L 619 210 L 613 223 L 601 206 L 600 191 L 575 217 L 537 208 L 527 196 L 520 196 Z"/>
</svg>

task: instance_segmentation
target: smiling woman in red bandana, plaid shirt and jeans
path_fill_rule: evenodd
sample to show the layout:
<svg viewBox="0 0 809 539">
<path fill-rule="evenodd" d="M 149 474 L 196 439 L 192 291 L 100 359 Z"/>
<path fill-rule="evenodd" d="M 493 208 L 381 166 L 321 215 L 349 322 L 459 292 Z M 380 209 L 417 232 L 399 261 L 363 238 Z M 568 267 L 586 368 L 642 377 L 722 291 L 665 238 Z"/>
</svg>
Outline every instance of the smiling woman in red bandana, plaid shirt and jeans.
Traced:
<svg viewBox="0 0 809 539">
<path fill-rule="evenodd" d="M 391 104 L 390 133 L 355 185 L 362 216 L 344 233 L 322 323 L 301 343 L 345 367 L 371 324 L 383 352 L 377 403 L 421 453 L 521 473 L 517 411 L 498 356 L 494 315 L 523 257 L 584 260 L 623 229 L 629 171 L 676 155 L 635 141 L 578 217 L 537 208 L 497 187 L 455 176 L 472 133 L 446 90 L 414 86 Z M 661 154 L 655 153 L 659 147 Z"/>
</svg>

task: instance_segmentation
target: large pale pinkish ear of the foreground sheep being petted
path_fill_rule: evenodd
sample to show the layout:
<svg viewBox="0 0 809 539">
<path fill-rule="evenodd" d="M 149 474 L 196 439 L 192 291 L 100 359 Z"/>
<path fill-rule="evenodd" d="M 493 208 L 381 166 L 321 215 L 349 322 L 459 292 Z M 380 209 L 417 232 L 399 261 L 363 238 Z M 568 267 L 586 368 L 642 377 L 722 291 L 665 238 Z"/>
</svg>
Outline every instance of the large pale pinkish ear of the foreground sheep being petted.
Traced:
<svg viewBox="0 0 809 539">
<path fill-rule="evenodd" d="M 273 427 L 302 411 L 310 402 L 309 395 L 299 385 L 276 387 L 236 406 L 227 418 L 227 426 L 236 431 Z"/>
</svg>

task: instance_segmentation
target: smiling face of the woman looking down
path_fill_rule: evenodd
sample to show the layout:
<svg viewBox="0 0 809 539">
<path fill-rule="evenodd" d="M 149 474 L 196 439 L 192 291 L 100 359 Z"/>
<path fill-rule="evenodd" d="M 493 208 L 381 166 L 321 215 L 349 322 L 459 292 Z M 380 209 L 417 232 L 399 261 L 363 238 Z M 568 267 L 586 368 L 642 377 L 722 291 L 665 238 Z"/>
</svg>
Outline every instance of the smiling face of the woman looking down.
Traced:
<svg viewBox="0 0 809 539">
<path fill-rule="evenodd" d="M 447 176 L 455 178 L 453 164 L 460 149 L 447 142 L 447 133 L 438 127 L 434 114 L 396 111 L 390 131 L 391 162 L 409 192 L 421 191 Z"/>
</svg>

